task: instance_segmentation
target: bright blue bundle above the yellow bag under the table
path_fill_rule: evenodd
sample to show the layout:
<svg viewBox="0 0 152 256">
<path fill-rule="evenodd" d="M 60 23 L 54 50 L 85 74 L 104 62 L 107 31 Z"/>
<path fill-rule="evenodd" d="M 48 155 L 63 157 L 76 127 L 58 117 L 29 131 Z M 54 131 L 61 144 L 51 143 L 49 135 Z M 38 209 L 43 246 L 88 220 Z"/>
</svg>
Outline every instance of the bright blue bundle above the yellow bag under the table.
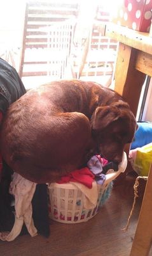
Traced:
<svg viewBox="0 0 152 256">
<path fill-rule="evenodd" d="M 143 147 L 152 142 L 152 123 L 150 122 L 137 122 L 138 129 L 135 132 L 134 141 L 130 149 Z"/>
</svg>

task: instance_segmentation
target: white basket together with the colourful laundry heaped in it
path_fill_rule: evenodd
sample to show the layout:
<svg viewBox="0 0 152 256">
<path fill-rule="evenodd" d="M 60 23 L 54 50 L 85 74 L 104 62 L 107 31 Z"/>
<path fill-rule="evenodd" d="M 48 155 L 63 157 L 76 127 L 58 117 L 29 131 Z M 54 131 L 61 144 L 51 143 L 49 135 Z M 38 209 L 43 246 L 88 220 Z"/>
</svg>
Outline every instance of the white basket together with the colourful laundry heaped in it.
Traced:
<svg viewBox="0 0 152 256">
<path fill-rule="evenodd" d="M 112 182 L 104 186 L 106 174 L 118 171 L 118 164 L 93 156 L 85 168 L 74 170 L 58 182 L 49 184 L 49 216 L 59 222 L 88 220 L 109 198 Z M 69 183 L 72 187 L 57 184 Z"/>
</svg>

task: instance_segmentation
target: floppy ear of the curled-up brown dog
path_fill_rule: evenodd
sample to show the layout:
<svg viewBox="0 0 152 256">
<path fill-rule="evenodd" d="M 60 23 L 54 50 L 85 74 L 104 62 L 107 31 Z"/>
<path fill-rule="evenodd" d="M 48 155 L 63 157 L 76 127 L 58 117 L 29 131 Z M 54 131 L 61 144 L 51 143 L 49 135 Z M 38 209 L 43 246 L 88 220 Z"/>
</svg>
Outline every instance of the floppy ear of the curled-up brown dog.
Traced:
<svg viewBox="0 0 152 256">
<path fill-rule="evenodd" d="M 92 129 L 104 129 L 111 122 L 120 117 L 120 111 L 115 106 L 98 107 L 92 120 Z"/>
</svg>

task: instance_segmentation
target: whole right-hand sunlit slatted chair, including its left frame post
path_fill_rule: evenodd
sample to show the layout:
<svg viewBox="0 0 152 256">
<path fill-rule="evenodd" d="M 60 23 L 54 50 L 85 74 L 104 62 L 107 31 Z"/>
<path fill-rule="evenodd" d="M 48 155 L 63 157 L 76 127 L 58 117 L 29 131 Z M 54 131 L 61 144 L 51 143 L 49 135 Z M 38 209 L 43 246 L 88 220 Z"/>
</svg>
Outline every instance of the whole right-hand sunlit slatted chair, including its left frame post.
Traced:
<svg viewBox="0 0 152 256">
<path fill-rule="evenodd" d="M 114 76 L 114 63 L 118 43 L 105 36 L 109 13 L 98 6 L 96 17 L 88 29 L 86 38 L 79 40 L 79 57 L 74 67 L 77 78 L 107 76 L 106 86 L 111 84 Z M 74 72 L 73 72 L 74 73 Z"/>
</svg>

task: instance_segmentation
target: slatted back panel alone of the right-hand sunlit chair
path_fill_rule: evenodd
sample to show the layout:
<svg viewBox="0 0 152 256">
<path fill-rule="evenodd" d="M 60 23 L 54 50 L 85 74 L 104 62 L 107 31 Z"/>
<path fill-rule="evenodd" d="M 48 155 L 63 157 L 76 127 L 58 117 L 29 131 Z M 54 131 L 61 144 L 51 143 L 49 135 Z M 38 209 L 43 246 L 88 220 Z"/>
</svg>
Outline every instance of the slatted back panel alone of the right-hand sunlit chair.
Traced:
<svg viewBox="0 0 152 256">
<path fill-rule="evenodd" d="M 104 76 L 113 73 L 117 43 L 111 42 L 104 35 L 106 24 L 101 25 L 103 29 L 99 31 L 98 24 L 93 24 L 92 33 L 90 33 L 88 40 L 88 54 L 83 70 L 80 70 L 80 76 Z"/>
</svg>

